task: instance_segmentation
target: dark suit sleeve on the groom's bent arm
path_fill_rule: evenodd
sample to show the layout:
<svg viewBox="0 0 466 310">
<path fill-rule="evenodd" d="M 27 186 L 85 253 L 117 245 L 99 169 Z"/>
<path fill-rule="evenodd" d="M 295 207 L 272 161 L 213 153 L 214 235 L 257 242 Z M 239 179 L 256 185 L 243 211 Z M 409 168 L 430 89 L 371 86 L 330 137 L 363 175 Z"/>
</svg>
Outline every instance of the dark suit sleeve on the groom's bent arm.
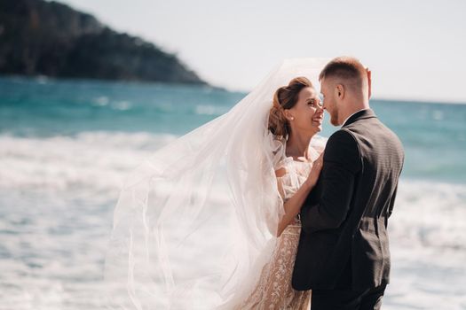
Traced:
<svg viewBox="0 0 466 310">
<path fill-rule="evenodd" d="M 303 205 L 301 222 L 305 232 L 336 229 L 346 218 L 357 174 L 362 168 L 358 143 L 341 129 L 330 136 L 320 174 L 322 192 L 314 205 Z"/>
</svg>

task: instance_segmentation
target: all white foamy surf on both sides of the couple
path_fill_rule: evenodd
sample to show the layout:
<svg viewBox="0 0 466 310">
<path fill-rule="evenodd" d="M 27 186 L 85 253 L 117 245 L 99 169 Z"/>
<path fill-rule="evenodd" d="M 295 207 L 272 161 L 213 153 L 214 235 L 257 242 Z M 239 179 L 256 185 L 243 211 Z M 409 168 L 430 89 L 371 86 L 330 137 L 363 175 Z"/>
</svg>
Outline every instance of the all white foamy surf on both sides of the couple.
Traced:
<svg viewBox="0 0 466 310">
<path fill-rule="evenodd" d="M 174 138 L 0 136 L 0 309 L 103 309 L 103 260 L 119 189 Z M 223 203 L 218 198 L 213 207 Z M 384 309 L 466 308 L 466 186 L 402 180 L 389 230 Z"/>
</svg>

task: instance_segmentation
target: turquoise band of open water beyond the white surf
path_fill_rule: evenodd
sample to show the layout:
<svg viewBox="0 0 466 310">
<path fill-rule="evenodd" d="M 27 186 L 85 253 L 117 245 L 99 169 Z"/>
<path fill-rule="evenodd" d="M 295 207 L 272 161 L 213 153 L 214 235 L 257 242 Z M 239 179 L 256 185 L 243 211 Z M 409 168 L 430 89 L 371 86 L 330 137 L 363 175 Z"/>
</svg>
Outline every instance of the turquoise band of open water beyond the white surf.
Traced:
<svg viewBox="0 0 466 310">
<path fill-rule="evenodd" d="M 107 81 L 0 79 L 0 134 L 179 136 L 227 112 L 245 94 L 209 87 Z M 466 105 L 373 100 L 407 152 L 403 175 L 466 182 Z M 335 130 L 324 123 L 323 136 Z"/>
</svg>

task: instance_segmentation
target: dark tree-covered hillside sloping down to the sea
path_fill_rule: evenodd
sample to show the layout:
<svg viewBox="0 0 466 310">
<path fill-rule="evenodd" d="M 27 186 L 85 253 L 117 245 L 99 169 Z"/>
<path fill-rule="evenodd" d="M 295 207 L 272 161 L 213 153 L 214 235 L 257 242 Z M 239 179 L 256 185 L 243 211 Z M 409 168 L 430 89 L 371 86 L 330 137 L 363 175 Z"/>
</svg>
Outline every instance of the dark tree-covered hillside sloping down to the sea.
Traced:
<svg viewBox="0 0 466 310">
<path fill-rule="evenodd" d="M 0 0 L 0 74 L 206 84 L 153 43 L 43 0 Z"/>
</svg>

